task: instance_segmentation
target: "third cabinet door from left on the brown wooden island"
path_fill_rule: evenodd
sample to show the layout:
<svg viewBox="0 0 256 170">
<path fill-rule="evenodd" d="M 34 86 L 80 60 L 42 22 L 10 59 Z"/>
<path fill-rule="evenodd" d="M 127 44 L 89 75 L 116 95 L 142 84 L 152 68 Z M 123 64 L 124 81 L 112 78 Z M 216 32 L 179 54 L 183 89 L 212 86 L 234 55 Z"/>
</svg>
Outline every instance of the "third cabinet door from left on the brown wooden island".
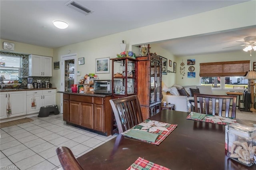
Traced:
<svg viewBox="0 0 256 170">
<path fill-rule="evenodd" d="M 81 125 L 93 128 L 93 104 L 81 103 Z"/>
</svg>

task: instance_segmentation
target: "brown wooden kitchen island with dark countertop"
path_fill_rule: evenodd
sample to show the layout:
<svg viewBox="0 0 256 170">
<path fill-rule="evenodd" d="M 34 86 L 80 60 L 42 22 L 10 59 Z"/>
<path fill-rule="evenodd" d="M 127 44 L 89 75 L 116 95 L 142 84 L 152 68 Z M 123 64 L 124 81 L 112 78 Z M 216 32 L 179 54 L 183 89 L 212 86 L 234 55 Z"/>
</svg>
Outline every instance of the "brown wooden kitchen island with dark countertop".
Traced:
<svg viewBox="0 0 256 170">
<path fill-rule="evenodd" d="M 63 93 L 63 120 L 68 125 L 109 136 L 112 134 L 112 95 L 94 93 Z"/>
</svg>

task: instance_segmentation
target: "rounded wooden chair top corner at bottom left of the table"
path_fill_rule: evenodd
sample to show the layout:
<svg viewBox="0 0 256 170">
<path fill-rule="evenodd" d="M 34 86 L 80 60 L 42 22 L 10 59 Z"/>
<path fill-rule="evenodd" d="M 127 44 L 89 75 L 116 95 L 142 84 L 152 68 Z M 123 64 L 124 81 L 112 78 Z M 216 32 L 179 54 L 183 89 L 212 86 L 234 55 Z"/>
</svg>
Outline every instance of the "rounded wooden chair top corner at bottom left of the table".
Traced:
<svg viewBox="0 0 256 170">
<path fill-rule="evenodd" d="M 64 170 L 83 170 L 69 148 L 61 146 L 56 149 L 56 152 Z"/>
</svg>

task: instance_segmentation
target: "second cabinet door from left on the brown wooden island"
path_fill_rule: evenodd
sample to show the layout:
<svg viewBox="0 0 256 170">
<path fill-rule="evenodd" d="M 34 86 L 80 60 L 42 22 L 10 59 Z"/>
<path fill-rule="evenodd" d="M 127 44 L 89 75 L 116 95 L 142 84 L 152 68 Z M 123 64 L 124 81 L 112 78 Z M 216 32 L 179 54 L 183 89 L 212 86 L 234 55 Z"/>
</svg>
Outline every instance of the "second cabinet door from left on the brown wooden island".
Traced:
<svg viewBox="0 0 256 170">
<path fill-rule="evenodd" d="M 69 101 L 69 121 L 80 125 L 80 102 Z"/>
</svg>

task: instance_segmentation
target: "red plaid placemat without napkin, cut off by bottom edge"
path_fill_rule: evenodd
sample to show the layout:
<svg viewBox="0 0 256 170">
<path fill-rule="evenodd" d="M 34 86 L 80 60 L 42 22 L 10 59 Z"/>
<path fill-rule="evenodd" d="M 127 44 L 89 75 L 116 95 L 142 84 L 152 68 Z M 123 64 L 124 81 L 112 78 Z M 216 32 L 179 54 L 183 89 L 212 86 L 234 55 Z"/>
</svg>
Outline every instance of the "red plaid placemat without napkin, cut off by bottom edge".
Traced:
<svg viewBox="0 0 256 170">
<path fill-rule="evenodd" d="M 170 170 L 170 169 L 139 157 L 127 170 Z"/>
</svg>

